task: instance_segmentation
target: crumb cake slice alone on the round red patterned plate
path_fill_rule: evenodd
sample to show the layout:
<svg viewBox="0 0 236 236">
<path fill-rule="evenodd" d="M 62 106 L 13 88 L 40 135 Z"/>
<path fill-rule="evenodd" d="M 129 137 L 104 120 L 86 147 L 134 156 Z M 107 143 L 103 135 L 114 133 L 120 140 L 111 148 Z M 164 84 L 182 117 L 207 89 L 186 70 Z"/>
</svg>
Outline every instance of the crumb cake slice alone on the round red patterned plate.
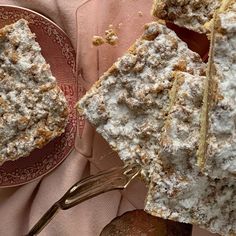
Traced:
<svg viewBox="0 0 236 236">
<path fill-rule="evenodd" d="M 61 135 L 67 116 L 64 94 L 28 22 L 0 29 L 0 165 Z"/>
</svg>

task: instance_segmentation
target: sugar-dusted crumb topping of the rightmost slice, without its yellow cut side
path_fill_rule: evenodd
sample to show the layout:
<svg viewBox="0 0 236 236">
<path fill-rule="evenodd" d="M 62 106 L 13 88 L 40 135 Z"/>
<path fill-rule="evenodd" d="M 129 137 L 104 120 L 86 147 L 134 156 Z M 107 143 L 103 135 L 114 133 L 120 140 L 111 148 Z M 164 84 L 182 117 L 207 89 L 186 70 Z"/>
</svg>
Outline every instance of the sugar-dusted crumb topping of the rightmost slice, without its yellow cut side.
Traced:
<svg viewBox="0 0 236 236">
<path fill-rule="evenodd" d="M 214 40 L 214 79 L 217 99 L 209 111 L 205 172 L 215 178 L 236 177 L 236 3 L 217 17 Z"/>
</svg>

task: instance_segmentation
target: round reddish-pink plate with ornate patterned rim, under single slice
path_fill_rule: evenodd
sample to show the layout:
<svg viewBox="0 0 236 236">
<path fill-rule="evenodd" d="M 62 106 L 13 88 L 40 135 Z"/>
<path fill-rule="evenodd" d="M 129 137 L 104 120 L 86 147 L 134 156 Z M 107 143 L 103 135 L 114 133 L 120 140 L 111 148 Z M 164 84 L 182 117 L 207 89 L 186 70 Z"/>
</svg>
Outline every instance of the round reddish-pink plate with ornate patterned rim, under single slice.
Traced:
<svg viewBox="0 0 236 236">
<path fill-rule="evenodd" d="M 42 54 L 50 64 L 52 73 L 64 91 L 70 107 L 66 132 L 43 149 L 17 161 L 0 166 L 0 187 L 11 187 L 28 183 L 52 171 L 72 151 L 76 134 L 76 112 L 78 84 L 75 79 L 75 51 L 72 44 L 55 23 L 29 9 L 16 6 L 0 6 L 0 27 L 24 18 L 36 34 Z"/>
</svg>

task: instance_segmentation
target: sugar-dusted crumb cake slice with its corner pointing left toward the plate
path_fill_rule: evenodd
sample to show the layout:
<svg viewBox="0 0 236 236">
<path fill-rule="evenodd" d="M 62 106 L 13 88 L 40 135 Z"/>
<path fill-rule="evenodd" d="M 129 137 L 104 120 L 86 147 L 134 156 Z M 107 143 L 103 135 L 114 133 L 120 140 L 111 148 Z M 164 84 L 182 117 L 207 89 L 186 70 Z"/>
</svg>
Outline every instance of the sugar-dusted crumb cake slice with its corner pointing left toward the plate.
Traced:
<svg viewBox="0 0 236 236">
<path fill-rule="evenodd" d="M 164 24 L 152 22 L 129 51 L 79 101 L 82 114 L 125 162 L 156 159 L 172 71 L 205 73 L 205 64 Z"/>
</svg>

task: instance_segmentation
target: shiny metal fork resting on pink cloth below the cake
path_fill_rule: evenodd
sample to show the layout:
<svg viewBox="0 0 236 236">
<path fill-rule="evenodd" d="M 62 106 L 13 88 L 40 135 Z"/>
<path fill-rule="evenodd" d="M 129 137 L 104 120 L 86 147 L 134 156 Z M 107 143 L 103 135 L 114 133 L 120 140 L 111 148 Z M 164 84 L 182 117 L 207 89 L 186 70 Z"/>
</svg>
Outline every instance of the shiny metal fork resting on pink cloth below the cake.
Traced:
<svg viewBox="0 0 236 236">
<path fill-rule="evenodd" d="M 38 235 L 60 209 L 67 210 L 101 193 L 125 189 L 131 180 L 139 175 L 140 170 L 141 167 L 138 164 L 131 164 L 99 172 L 97 175 L 89 176 L 77 182 L 59 201 L 50 207 L 26 236 Z"/>
</svg>

